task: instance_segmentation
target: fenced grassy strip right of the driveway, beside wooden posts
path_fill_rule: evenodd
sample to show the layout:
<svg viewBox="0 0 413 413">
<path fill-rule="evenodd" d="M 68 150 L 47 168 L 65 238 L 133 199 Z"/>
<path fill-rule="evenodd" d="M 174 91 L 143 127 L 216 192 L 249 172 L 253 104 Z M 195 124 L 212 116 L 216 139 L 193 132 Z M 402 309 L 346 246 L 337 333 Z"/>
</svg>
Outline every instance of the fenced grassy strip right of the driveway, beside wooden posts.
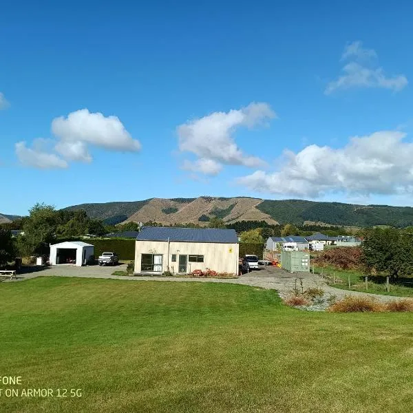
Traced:
<svg viewBox="0 0 413 413">
<path fill-rule="evenodd" d="M 340 270 L 333 267 L 314 267 L 315 273 L 324 274 L 324 277 L 328 280 L 328 283 L 342 290 L 360 291 L 361 293 L 373 293 L 381 295 L 396 295 L 399 297 L 413 297 L 413 288 L 399 284 L 390 284 L 390 293 L 387 292 L 385 283 L 381 279 L 381 283 L 374 282 L 374 277 L 368 277 L 368 289 L 366 290 L 366 283 L 364 281 L 364 275 L 359 271 L 354 270 Z M 334 277 L 336 282 L 334 282 Z M 348 277 L 350 277 L 350 285 L 348 287 Z M 412 279 L 413 281 L 413 279 Z M 412 284 L 413 286 L 413 284 Z"/>
</svg>

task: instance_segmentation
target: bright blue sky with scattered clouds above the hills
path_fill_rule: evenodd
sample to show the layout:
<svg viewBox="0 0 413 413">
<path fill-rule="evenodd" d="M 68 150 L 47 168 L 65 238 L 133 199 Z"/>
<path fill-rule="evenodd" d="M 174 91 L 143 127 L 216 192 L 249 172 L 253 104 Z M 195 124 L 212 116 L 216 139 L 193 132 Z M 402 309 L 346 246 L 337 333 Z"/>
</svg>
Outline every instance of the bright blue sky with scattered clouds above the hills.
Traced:
<svg viewBox="0 0 413 413">
<path fill-rule="evenodd" d="M 1 213 L 198 195 L 411 205 L 409 2 L 59 3 L 2 6 Z"/>
</svg>

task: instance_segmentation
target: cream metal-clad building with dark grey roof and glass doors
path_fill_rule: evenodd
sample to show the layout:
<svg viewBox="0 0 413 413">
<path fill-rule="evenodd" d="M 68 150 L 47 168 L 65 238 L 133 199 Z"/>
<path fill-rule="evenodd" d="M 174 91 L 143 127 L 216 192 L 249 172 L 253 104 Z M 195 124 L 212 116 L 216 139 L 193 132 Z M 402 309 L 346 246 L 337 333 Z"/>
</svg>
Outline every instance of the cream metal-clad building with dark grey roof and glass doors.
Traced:
<svg viewBox="0 0 413 413">
<path fill-rule="evenodd" d="M 233 229 L 143 226 L 136 237 L 135 273 L 187 274 L 209 268 L 237 275 L 238 255 Z"/>
</svg>

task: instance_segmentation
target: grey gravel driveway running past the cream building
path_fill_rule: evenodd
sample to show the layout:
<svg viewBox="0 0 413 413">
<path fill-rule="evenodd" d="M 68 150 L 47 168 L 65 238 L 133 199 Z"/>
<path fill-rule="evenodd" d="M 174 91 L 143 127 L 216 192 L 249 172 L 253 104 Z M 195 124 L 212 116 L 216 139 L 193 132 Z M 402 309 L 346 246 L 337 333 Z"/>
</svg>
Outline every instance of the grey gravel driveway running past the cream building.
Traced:
<svg viewBox="0 0 413 413">
<path fill-rule="evenodd" d="M 345 295 L 355 295 L 361 297 L 375 297 L 380 301 L 392 301 L 395 299 L 401 299 L 402 297 L 396 297 L 392 295 L 377 295 L 369 293 L 360 293 L 358 291 L 341 290 L 339 288 L 332 288 L 328 286 L 324 279 L 317 274 L 310 273 L 295 273 L 290 274 L 281 268 L 274 266 L 262 267 L 260 270 L 252 271 L 242 275 L 237 279 L 213 279 L 213 278 L 180 278 L 180 277 L 142 277 L 142 276 L 123 276 L 112 275 L 114 271 L 125 271 L 126 264 L 120 264 L 118 266 L 85 266 L 76 267 L 71 265 L 59 265 L 52 267 L 38 267 L 35 268 L 38 271 L 32 273 L 18 275 L 17 280 L 7 279 L 4 282 L 20 282 L 24 279 L 30 279 L 34 277 L 85 277 L 85 278 L 108 278 L 108 279 L 124 279 L 134 281 L 170 281 L 170 282 L 223 282 L 230 284 L 244 284 L 247 286 L 256 286 L 261 288 L 269 288 L 277 290 L 280 295 L 286 295 L 293 290 L 295 282 L 297 280 L 297 287 L 301 288 L 299 279 L 302 279 L 304 290 L 308 287 L 320 287 L 325 293 L 332 294 L 341 299 Z"/>
</svg>

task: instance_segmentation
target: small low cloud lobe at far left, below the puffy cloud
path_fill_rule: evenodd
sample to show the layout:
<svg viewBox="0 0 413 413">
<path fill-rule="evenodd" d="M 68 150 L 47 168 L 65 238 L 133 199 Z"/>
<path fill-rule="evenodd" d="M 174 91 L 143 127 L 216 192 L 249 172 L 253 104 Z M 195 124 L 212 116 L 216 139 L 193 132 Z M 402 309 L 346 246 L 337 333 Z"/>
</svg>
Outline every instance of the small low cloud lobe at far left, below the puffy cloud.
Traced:
<svg viewBox="0 0 413 413">
<path fill-rule="evenodd" d="M 17 142 L 15 145 L 17 158 L 21 165 L 38 169 L 62 169 L 67 168 L 67 162 L 54 153 L 47 153 L 36 148 L 26 147 L 25 142 Z"/>
</svg>

